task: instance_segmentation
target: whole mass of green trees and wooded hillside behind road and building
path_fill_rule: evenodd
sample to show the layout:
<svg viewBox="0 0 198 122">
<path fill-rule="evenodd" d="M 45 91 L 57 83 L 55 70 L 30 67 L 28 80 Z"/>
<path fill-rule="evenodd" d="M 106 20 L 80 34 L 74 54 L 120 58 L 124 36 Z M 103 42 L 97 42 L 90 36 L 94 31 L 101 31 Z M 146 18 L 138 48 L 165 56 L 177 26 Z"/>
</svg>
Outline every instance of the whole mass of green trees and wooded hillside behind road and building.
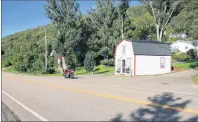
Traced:
<svg viewBox="0 0 198 122">
<path fill-rule="evenodd" d="M 129 0 L 118 4 L 99 0 L 94 9 L 82 14 L 76 0 L 48 0 L 45 10 L 52 23 L 3 38 L 2 65 L 20 72 L 44 73 L 45 29 L 47 73 L 55 71 L 59 55 L 72 68 L 85 66 L 88 71 L 98 64 L 113 65 L 114 48 L 123 35 L 174 42 L 176 39 L 168 39 L 170 33 L 186 32 L 190 39 L 198 39 L 197 0 L 141 1 L 143 5 L 130 7 Z M 182 56 L 188 59 L 182 54 L 178 60 Z"/>
</svg>

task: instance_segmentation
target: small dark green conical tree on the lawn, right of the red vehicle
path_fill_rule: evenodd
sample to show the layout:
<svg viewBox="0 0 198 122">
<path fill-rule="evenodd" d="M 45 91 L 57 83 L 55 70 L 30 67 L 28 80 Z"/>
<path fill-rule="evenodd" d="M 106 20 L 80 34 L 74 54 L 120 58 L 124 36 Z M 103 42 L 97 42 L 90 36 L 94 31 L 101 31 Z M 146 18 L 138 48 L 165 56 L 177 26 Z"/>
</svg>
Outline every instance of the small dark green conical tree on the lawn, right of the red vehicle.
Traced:
<svg viewBox="0 0 198 122">
<path fill-rule="evenodd" d="M 84 67 L 89 72 L 89 74 L 93 73 L 95 64 L 96 62 L 95 62 L 94 52 L 92 51 L 87 52 L 85 60 L 84 60 Z"/>
</svg>

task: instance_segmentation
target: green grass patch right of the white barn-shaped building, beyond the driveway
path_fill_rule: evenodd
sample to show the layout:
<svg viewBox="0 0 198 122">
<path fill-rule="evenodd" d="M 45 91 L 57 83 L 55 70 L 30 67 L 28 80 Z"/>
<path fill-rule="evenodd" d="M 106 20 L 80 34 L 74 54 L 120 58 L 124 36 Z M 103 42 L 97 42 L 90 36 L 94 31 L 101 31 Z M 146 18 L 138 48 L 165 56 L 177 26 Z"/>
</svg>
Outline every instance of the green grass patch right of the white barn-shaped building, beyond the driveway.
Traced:
<svg viewBox="0 0 198 122">
<path fill-rule="evenodd" d="M 179 64 L 174 64 L 173 65 L 174 68 L 181 68 L 184 70 L 190 69 L 190 68 L 195 68 L 198 67 L 198 60 L 190 60 L 190 61 L 186 61 L 184 63 L 179 63 Z"/>
</svg>

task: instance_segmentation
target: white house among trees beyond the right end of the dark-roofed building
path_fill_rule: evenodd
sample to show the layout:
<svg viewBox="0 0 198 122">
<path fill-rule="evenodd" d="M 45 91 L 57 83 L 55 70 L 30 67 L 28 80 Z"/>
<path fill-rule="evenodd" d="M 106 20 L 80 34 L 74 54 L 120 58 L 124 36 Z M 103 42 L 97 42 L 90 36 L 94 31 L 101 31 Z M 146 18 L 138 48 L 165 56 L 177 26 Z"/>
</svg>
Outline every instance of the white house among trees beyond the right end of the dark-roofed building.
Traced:
<svg viewBox="0 0 198 122">
<path fill-rule="evenodd" d="M 192 42 L 190 41 L 183 41 L 183 40 L 178 40 L 176 42 L 173 42 L 170 45 L 171 52 L 174 52 L 176 50 L 179 50 L 180 52 L 186 53 L 190 49 L 195 49 L 193 46 Z"/>
</svg>

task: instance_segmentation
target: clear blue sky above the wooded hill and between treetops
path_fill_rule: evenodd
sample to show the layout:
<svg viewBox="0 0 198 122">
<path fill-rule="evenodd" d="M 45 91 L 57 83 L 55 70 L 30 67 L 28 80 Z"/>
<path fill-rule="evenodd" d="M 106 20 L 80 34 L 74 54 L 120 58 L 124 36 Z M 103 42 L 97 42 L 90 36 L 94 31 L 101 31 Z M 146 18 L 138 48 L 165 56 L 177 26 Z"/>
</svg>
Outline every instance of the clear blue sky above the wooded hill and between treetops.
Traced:
<svg viewBox="0 0 198 122">
<path fill-rule="evenodd" d="M 50 19 L 44 10 L 45 0 L 2 0 L 2 38 L 16 32 L 47 25 Z M 79 1 L 83 14 L 95 6 L 91 0 Z M 130 6 L 139 5 L 138 1 L 130 2 Z"/>
</svg>

